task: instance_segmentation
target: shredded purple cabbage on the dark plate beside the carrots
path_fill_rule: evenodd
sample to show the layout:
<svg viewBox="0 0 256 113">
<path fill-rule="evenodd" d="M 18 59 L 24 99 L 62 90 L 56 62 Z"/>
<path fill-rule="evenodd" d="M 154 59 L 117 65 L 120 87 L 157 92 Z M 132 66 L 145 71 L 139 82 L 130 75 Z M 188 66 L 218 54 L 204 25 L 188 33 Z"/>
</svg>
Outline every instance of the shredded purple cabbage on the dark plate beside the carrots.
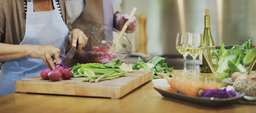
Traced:
<svg viewBox="0 0 256 113">
<path fill-rule="evenodd" d="M 225 87 L 224 89 L 206 90 L 206 92 L 202 92 L 201 96 L 208 98 L 232 98 L 236 96 L 236 91 L 227 91 L 226 88 L 227 87 Z"/>
</svg>

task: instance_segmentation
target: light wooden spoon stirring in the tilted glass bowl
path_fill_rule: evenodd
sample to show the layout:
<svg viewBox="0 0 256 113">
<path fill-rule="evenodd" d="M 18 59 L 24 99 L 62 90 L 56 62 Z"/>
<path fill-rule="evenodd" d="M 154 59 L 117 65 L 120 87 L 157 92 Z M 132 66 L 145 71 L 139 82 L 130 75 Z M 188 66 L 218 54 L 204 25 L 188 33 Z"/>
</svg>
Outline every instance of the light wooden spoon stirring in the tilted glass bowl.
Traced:
<svg viewBox="0 0 256 113">
<path fill-rule="evenodd" d="M 121 32 L 120 32 L 120 34 L 119 34 L 118 40 L 116 41 L 115 44 L 113 44 L 113 45 L 110 47 L 110 50 L 115 51 L 115 50 L 117 49 L 117 45 L 118 45 L 120 39 L 123 37 L 124 31 L 126 31 L 126 29 L 127 29 L 127 23 L 128 23 L 128 21 L 130 21 L 130 20 L 132 19 L 132 17 L 134 16 L 134 14 L 135 14 L 136 11 L 137 11 L 137 8 L 133 8 L 133 9 L 132 9 L 132 12 L 130 13 L 129 19 L 126 21 L 126 23 L 124 24 L 123 29 L 121 30 Z M 114 49 L 113 49 L 113 47 L 114 47 Z"/>
</svg>

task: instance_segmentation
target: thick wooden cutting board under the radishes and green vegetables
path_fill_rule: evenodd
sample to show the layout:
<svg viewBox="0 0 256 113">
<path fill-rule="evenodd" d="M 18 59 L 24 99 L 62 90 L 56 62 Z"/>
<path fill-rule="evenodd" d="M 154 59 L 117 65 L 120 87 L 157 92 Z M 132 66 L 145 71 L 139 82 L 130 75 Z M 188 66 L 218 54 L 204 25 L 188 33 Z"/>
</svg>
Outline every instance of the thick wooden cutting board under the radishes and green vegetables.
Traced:
<svg viewBox="0 0 256 113">
<path fill-rule="evenodd" d="M 38 75 L 16 81 L 15 89 L 16 92 L 121 98 L 153 77 L 152 71 L 145 70 L 133 70 L 126 74 L 99 82 L 82 82 L 83 77 L 51 81 Z"/>
</svg>

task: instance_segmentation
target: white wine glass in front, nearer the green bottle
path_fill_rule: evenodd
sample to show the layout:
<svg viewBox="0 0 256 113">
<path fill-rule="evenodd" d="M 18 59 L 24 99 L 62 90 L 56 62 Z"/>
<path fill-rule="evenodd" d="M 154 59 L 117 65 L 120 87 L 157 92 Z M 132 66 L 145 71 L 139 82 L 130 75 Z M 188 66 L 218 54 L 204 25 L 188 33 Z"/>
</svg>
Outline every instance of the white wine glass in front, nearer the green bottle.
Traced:
<svg viewBox="0 0 256 113">
<path fill-rule="evenodd" d="M 193 58 L 193 71 L 191 76 L 200 76 L 195 72 L 195 58 L 202 53 L 201 47 L 203 47 L 203 35 L 192 33 L 191 37 L 186 38 L 187 52 Z"/>
</svg>

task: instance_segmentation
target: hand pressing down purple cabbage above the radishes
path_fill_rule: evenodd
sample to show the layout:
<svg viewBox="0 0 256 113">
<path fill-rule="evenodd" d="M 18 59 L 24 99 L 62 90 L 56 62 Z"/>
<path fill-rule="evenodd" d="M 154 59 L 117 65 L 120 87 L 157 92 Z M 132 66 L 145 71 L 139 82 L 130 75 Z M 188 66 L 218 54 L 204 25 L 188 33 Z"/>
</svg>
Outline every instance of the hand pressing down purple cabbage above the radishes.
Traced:
<svg viewBox="0 0 256 113">
<path fill-rule="evenodd" d="M 32 58 L 40 58 L 46 64 L 49 69 L 55 69 L 55 65 L 53 63 L 53 59 L 51 58 L 51 54 L 55 56 L 55 60 L 57 64 L 60 64 L 61 61 L 59 60 L 59 54 L 61 52 L 60 49 L 53 47 L 53 46 L 39 46 L 39 45 L 29 45 L 33 46 L 30 47 L 31 51 L 29 56 Z"/>
</svg>

